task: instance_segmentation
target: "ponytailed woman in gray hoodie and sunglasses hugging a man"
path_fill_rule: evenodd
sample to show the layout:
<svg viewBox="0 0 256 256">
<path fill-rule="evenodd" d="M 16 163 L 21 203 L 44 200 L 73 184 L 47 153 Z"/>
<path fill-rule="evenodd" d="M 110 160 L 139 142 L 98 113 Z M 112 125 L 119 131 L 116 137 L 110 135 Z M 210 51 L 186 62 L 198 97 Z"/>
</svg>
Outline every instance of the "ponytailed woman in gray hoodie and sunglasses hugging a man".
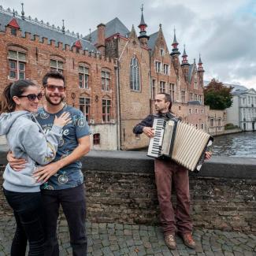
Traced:
<svg viewBox="0 0 256 256">
<path fill-rule="evenodd" d="M 27 163 L 20 172 L 6 165 L 3 190 L 12 207 L 17 229 L 11 247 L 11 256 L 23 256 L 29 243 L 29 256 L 43 255 L 43 217 L 40 183 L 33 172 L 38 165 L 54 160 L 61 138 L 62 127 L 67 124 L 68 113 L 56 117 L 50 132 L 44 134 L 35 120 L 42 93 L 31 80 L 17 80 L 9 84 L 0 102 L 0 135 L 6 135 L 10 150 L 16 158 Z"/>
</svg>

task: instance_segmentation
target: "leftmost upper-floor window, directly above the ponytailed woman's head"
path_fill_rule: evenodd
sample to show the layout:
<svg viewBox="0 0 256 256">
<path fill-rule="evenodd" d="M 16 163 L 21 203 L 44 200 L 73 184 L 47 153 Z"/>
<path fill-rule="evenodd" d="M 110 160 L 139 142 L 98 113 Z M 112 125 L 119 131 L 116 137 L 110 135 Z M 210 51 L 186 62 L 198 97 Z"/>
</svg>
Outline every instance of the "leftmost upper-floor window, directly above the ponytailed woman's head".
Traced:
<svg viewBox="0 0 256 256">
<path fill-rule="evenodd" d="M 9 50 L 9 79 L 25 79 L 26 54 Z"/>
</svg>

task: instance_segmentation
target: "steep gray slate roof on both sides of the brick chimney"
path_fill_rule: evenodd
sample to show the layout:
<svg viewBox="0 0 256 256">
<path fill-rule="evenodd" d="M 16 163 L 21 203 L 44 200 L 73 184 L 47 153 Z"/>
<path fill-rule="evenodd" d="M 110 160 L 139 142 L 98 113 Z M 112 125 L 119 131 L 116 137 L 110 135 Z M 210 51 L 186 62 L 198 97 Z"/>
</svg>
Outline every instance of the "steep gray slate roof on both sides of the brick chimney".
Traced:
<svg viewBox="0 0 256 256">
<path fill-rule="evenodd" d="M 98 29 L 96 29 L 94 32 L 91 32 L 91 34 L 86 35 L 83 37 L 83 39 L 89 40 L 91 37 L 91 43 L 97 43 L 98 40 Z M 110 20 L 108 23 L 106 23 L 105 28 L 105 38 L 109 38 L 111 35 L 120 34 L 123 37 L 128 37 L 130 31 L 128 28 L 124 26 L 124 24 L 119 20 L 117 17 L 113 20 Z"/>
</svg>

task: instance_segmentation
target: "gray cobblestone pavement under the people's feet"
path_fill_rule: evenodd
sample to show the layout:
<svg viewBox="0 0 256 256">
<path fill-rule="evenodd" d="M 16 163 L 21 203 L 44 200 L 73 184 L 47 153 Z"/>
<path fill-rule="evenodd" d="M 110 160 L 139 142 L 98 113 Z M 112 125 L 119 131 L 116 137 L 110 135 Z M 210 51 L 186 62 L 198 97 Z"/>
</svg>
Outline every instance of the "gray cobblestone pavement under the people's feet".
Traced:
<svg viewBox="0 0 256 256">
<path fill-rule="evenodd" d="M 2 217 L 0 220 L 0 256 L 9 255 L 14 230 L 13 217 Z M 256 255 L 256 236 L 239 232 L 196 229 L 194 232 L 197 242 L 195 250 L 185 247 L 179 237 L 176 237 L 177 249 L 169 250 L 165 246 L 161 228 L 153 226 L 87 222 L 87 235 L 88 256 Z M 61 255 L 72 255 L 66 221 L 59 221 L 58 237 Z"/>
</svg>

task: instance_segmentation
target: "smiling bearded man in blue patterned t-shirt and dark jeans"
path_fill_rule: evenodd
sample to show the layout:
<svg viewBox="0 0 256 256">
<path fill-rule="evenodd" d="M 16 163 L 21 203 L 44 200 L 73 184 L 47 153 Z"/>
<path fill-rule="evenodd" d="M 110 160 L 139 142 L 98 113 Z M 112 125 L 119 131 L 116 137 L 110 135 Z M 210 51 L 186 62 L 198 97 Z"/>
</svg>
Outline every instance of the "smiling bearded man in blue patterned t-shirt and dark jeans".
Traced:
<svg viewBox="0 0 256 256">
<path fill-rule="evenodd" d="M 45 255 L 59 255 L 57 221 L 61 205 L 69 224 L 72 253 L 84 256 L 87 255 L 86 206 L 82 165 L 79 159 L 90 150 L 90 131 L 83 113 L 65 104 L 65 77 L 61 73 L 46 73 L 43 77 L 43 91 L 46 104 L 39 108 L 36 119 L 44 132 L 50 130 L 55 116 L 69 112 L 72 118 L 69 124 L 63 127 L 54 161 L 40 167 L 35 173 L 35 176 L 39 176 L 39 181 L 44 181 L 41 191 L 46 221 Z M 10 156 L 8 159 L 14 169 L 22 167 L 17 160 Z M 21 161 L 21 164 L 24 165 L 24 161 Z"/>
</svg>

